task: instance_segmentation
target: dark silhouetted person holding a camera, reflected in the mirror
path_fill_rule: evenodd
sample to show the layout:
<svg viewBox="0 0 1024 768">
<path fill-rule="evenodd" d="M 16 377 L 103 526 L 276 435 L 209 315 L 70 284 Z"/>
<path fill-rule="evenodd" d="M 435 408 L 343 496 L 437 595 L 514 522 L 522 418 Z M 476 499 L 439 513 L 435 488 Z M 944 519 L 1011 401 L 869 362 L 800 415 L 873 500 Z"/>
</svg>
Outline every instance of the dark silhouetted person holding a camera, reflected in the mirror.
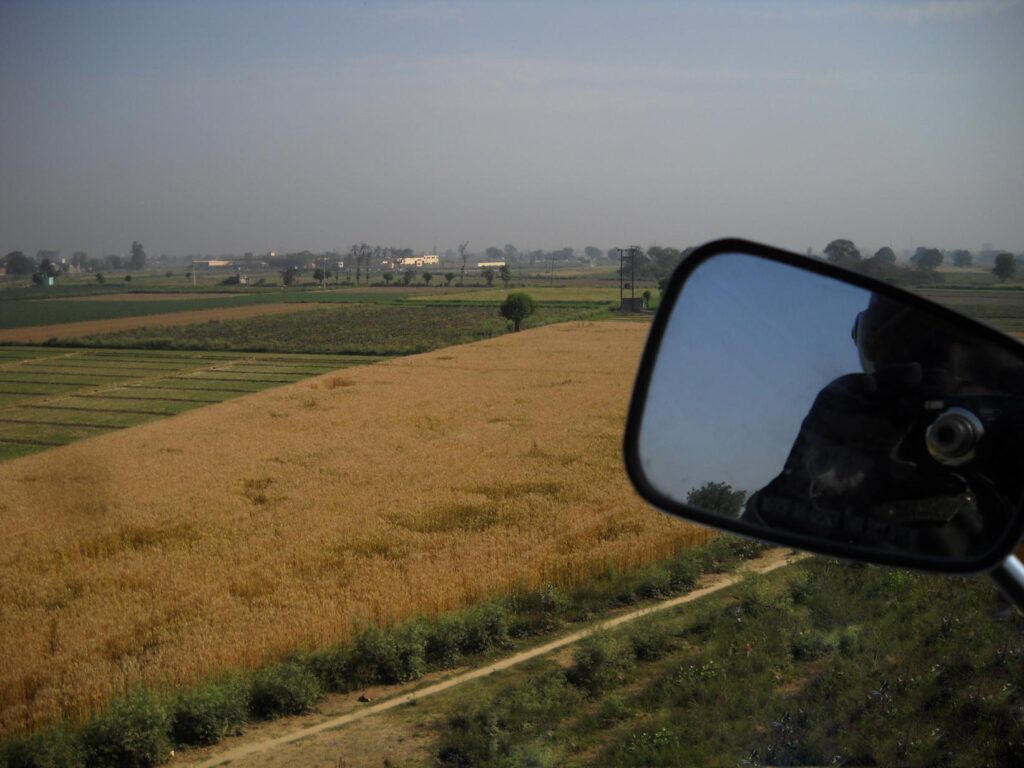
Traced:
<svg viewBox="0 0 1024 768">
<path fill-rule="evenodd" d="M 742 518 L 874 549 L 984 553 L 1020 501 L 1020 359 L 880 294 L 852 336 L 863 373 L 818 393 L 782 472 Z M 985 422 L 976 449 L 952 464 L 927 447 L 950 404 Z"/>
</svg>

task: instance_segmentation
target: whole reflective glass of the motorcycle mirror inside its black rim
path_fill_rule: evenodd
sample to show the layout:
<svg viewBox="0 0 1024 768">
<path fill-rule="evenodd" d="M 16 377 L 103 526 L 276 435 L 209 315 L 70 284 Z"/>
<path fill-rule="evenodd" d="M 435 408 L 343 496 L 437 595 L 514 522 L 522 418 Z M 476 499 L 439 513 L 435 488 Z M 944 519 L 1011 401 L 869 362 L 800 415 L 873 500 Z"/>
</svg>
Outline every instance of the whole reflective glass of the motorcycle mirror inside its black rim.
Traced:
<svg viewBox="0 0 1024 768">
<path fill-rule="evenodd" d="M 721 254 L 668 318 L 638 456 L 660 495 L 762 538 L 981 558 L 1021 499 L 1022 385 L 1020 353 L 927 308 Z"/>
</svg>

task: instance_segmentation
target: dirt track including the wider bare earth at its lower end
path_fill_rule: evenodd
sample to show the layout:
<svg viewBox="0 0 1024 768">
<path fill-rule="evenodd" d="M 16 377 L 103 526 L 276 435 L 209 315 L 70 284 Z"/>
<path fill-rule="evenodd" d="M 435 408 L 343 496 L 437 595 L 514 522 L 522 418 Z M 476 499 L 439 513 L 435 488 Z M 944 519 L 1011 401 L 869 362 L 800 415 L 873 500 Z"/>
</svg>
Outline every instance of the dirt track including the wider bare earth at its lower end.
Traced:
<svg viewBox="0 0 1024 768">
<path fill-rule="evenodd" d="M 389 689 L 382 690 L 381 693 L 385 695 L 390 693 L 392 695 L 380 703 L 375 703 L 370 707 L 356 703 L 354 699 L 355 694 L 353 693 L 347 698 L 350 699 L 350 703 L 352 706 L 359 709 L 354 709 L 341 715 L 328 717 L 327 719 L 312 725 L 309 725 L 308 723 L 311 718 L 315 718 L 315 715 L 293 718 L 291 723 L 288 723 L 285 727 L 284 732 L 281 732 L 281 726 L 284 725 L 281 721 L 278 723 L 268 723 L 266 726 L 254 728 L 243 736 L 229 739 L 226 742 L 227 749 L 224 749 L 224 745 L 221 745 L 220 750 L 213 748 L 212 753 L 210 751 L 206 751 L 205 759 L 201 759 L 199 762 L 189 762 L 187 758 L 190 757 L 190 754 L 184 754 L 179 756 L 179 759 L 175 761 L 175 765 L 191 765 L 197 768 L 213 768 L 214 766 L 222 766 L 226 764 L 230 764 L 231 766 L 272 765 L 286 768 L 288 766 L 325 764 L 326 761 L 335 760 L 337 758 L 337 754 L 343 750 L 342 744 L 347 740 L 346 736 L 343 732 L 337 732 L 337 729 L 343 726 L 371 717 L 372 715 L 393 710 L 396 707 L 415 703 L 428 696 L 454 688 L 457 685 L 462 685 L 463 683 L 468 683 L 472 680 L 486 677 L 493 673 L 510 669 L 523 664 L 524 662 L 528 662 L 531 658 L 546 655 L 560 648 L 564 648 L 567 645 L 577 643 L 595 632 L 613 629 L 629 622 L 635 622 L 638 618 L 642 618 L 643 616 L 656 611 L 667 610 L 669 608 L 674 608 L 685 603 L 699 600 L 702 597 L 707 597 L 708 595 L 736 584 L 743 578 L 743 573 L 746 571 L 768 573 L 776 568 L 790 565 L 791 563 L 803 559 L 804 557 L 804 555 L 791 555 L 786 553 L 787 551 L 783 549 L 769 550 L 760 558 L 746 563 L 737 571 L 706 577 L 701 580 L 700 587 L 680 597 L 665 600 L 664 602 L 655 605 L 649 605 L 647 607 L 615 616 L 614 618 L 597 623 L 587 629 L 579 630 L 556 640 L 544 643 L 543 645 L 538 645 L 536 647 L 519 651 L 518 653 L 514 653 L 485 667 L 453 675 L 452 677 L 442 679 L 425 687 L 410 691 L 409 688 L 411 686 L 408 685 L 391 686 Z M 402 692 L 402 690 L 406 690 L 407 692 Z M 276 728 L 274 728 L 275 725 L 278 726 Z M 267 731 L 271 729 L 279 731 L 278 735 L 270 735 L 267 733 Z M 331 731 L 331 733 L 325 733 L 326 731 Z M 313 738 L 319 734 L 323 734 L 321 738 Z M 296 742 L 300 740 L 302 740 L 303 743 L 296 744 Z M 280 752 L 273 755 L 267 754 L 278 750 L 279 748 L 285 746 L 286 744 L 294 744 L 292 749 L 287 751 L 287 754 Z M 199 757 L 199 754 L 197 754 L 196 757 Z M 240 763 L 240 761 L 243 762 Z M 337 764 L 347 765 L 346 762 L 338 762 Z"/>
</svg>

